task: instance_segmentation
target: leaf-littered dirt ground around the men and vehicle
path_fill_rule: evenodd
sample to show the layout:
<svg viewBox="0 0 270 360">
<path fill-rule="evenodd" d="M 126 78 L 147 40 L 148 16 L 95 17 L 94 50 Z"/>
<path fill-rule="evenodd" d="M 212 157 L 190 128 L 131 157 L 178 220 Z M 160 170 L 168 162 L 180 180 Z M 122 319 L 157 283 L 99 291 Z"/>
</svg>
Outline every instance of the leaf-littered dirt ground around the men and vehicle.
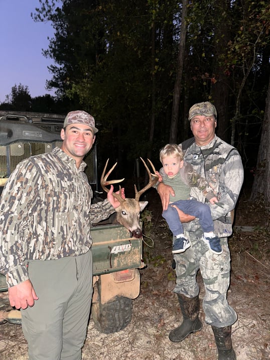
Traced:
<svg viewBox="0 0 270 360">
<path fill-rule="evenodd" d="M 231 250 L 230 305 L 238 319 L 232 326 L 232 341 L 238 360 L 270 359 L 270 229 L 269 213 L 263 203 L 251 204 L 249 193 L 242 191 L 236 208 Z M 132 319 L 113 334 L 98 332 L 90 318 L 83 347 L 84 360 L 215 360 L 217 350 L 211 327 L 204 323 L 200 332 L 180 343 L 168 339 L 171 329 L 182 321 L 177 296 L 173 293 L 172 236 L 161 216 L 155 191 L 148 193 L 145 232 L 154 247 L 144 247 L 147 267 L 141 272 L 141 293 L 133 300 Z M 147 222 L 147 220 L 151 220 Z M 249 226 L 253 228 L 250 229 Z M 246 231 L 248 230 L 248 231 Z M 251 231 L 250 231 L 251 230 Z M 149 238 L 145 240 L 151 244 Z M 198 283 L 204 288 L 200 274 Z M 200 317 L 204 320 L 201 310 Z M 1 360 L 27 359 L 27 344 L 20 325 L 0 325 Z M 53 359 L 51 359 L 53 360 Z"/>
</svg>

